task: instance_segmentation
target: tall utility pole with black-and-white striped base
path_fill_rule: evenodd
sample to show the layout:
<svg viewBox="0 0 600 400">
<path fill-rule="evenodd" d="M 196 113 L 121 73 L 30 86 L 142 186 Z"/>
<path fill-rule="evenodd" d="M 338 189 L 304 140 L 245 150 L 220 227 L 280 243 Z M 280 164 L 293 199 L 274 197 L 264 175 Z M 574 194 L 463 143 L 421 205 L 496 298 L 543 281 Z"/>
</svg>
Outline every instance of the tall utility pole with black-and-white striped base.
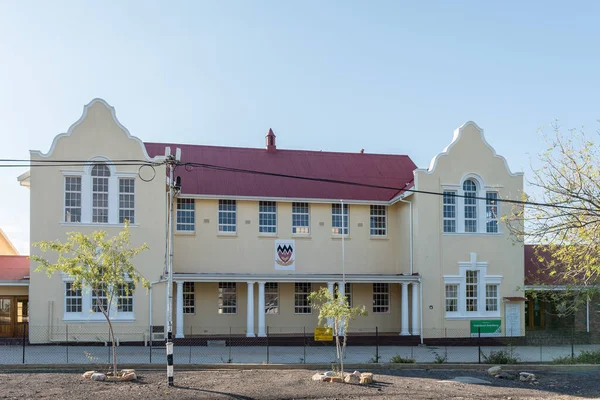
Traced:
<svg viewBox="0 0 600 400">
<path fill-rule="evenodd" d="M 166 164 L 169 168 L 169 197 L 168 197 L 168 209 L 169 215 L 167 215 L 167 381 L 169 386 L 174 385 L 173 375 L 173 209 L 175 203 L 175 195 L 181 189 L 181 181 L 179 177 L 177 181 L 174 180 L 175 167 L 181 160 L 181 149 L 177 149 L 175 156 L 171 154 L 171 148 L 165 149 Z"/>
</svg>

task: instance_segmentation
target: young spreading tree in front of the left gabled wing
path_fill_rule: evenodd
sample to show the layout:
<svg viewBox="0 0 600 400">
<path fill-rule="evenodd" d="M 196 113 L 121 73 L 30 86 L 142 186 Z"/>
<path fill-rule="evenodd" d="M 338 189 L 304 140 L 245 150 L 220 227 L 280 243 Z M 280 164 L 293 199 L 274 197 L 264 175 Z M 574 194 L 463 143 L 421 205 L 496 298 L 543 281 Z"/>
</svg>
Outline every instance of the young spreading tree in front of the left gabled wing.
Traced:
<svg viewBox="0 0 600 400">
<path fill-rule="evenodd" d="M 104 231 L 89 235 L 69 232 L 67 241 L 42 241 L 33 245 L 42 252 L 58 253 L 58 260 L 52 263 L 40 256 L 31 259 L 39 263 L 37 272 L 46 271 L 48 276 L 62 272 L 73 279 L 74 290 L 91 290 L 96 302 L 94 311 L 104 315 L 112 342 L 113 374 L 117 376 L 117 344 L 111 317 L 118 312 L 120 298 L 129 296 L 140 283 L 149 287 L 148 281 L 136 270 L 132 259 L 148 249 L 146 244 L 131 247 L 129 224 L 126 222 L 118 235 L 107 238 Z"/>
</svg>

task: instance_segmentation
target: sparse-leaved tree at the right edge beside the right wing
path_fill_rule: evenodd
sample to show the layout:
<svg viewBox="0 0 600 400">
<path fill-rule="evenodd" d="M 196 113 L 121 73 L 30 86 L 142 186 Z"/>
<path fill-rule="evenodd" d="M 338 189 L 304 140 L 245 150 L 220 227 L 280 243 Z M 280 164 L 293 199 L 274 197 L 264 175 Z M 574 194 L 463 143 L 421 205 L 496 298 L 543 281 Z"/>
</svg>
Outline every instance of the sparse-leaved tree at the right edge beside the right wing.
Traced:
<svg viewBox="0 0 600 400">
<path fill-rule="evenodd" d="M 534 204 L 517 210 L 508 226 L 519 240 L 536 244 L 540 282 L 546 276 L 567 287 L 544 295 L 568 314 L 600 283 L 600 146 L 583 131 L 552 128 L 552 135 L 541 132 L 548 148 L 529 182 L 534 194 L 524 196 Z"/>
</svg>

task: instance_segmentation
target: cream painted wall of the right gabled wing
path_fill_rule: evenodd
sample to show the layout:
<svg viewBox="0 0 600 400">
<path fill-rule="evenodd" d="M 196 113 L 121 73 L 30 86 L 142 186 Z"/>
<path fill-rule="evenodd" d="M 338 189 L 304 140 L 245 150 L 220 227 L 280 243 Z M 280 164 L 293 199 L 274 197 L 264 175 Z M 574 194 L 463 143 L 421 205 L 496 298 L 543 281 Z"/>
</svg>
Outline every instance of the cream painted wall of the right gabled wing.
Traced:
<svg viewBox="0 0 600 400">
<path fill-rule="evenodd" d="M 458 136 L 458 135 L 457 135 Z M 441 192 L 443 185 L 459 184 L 466 174 L 476 174 L 486 185 L 493 186 L 500 198 L 520 200 L 523 176 L 512 175 L 500 157 L 483 139 L 483 134 L 473 124 L 467 124 L 450 146 L 446 155 L 437 159 L 433 170 L 417 170 L 417 188 Z M 500 234 L 444 234 L 442 225 L 442 197 L 424 194 L 412 196 L 415 207 L 415 269 L 423 279 L 423 322 L 425 335 L 448 332 L 464 335 L 469 332 L 470 318 L 449 320 L 445 318 L 445 293 L 443 275 L 458 275 L 458 263 L 469 261 L 469 253 L 477 254 L 477 261 L 488 263 L 488 275 L 502 275 L 500 298 L 523 296 L 518 288 L 523 286 L 523 246 L 514 244 L 506 225 L 500 223 Z M 512 205 L 500 203 L 500 214 L 511 212 Z M 430 309 L 432 306 L 433 309 Z M 499 304 L 504 328 L 504 306 Z M 524 309 L 521 307 L 522 332 Z M 497 318 L 475 318 L 497 319 Z M 449 334 L 450 334 L 449 333 Z"/>
</svg>

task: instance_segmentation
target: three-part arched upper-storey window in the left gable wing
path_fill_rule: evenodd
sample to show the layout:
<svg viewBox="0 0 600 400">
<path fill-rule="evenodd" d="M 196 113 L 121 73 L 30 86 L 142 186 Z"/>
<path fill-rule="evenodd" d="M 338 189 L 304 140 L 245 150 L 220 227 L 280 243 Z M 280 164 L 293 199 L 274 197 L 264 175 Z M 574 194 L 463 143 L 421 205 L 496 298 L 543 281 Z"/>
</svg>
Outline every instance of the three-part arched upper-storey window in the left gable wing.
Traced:
<svg viewBox="0 0 600 400">
<path fill-rule="evenodd" d="M 117 172 L 110 162 L 92 160 L 83 171 L 63 171 L 63 222 L 136 223 L 135 173 Z"/>
</svg>

